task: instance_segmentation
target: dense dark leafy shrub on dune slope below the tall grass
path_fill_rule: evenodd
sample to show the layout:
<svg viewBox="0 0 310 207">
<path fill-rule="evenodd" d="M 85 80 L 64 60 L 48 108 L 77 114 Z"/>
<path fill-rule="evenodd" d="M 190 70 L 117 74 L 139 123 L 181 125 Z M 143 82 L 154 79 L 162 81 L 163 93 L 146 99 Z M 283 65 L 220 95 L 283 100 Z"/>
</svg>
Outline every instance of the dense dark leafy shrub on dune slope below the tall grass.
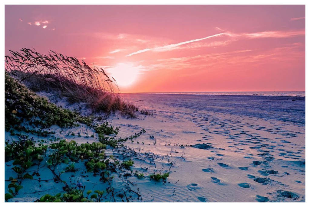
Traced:
<svg viewBox="0 0 310 207">
<path fill-rule="evenodd" d="M 60 108 L 47 99 L 37 96 L 24 85 L 5 73 L 5 127 L 20 125 L 23 121 L 43 128 L 53 124 L 73 126 L 82 121 L 77 113 Z"/>
</svg>

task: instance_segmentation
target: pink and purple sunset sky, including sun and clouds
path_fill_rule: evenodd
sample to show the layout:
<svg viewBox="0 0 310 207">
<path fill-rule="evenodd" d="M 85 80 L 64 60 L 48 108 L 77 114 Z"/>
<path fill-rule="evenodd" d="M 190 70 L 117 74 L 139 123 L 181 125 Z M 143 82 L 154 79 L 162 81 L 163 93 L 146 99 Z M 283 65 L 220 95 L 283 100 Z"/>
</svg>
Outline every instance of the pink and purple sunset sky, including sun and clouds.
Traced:
<svg viewBox="0 0 310 207">
<path fill-rule="evenodd" d="M 305 90 L 304 5 L 6 5 L 5 54 L 102 67 L 122 93 Z"/>
</svg>

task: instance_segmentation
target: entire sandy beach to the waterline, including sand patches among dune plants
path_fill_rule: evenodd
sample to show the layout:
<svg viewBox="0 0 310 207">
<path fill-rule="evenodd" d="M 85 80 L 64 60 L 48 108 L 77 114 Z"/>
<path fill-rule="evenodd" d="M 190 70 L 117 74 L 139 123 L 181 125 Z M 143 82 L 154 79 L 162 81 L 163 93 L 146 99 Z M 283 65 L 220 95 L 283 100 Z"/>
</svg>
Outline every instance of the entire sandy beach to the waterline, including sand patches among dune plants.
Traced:
<svg viewBox="0 0 310 207">
<path fill-rule="evenodd" d="M 123 98 L 153 112 L 136 119 L 115 114 L 106 120 L 120 127 L 119 137 L 145 129 L 124 143 L 134 152 L 131 170 L 144 173 L 144 178 L 115 176 L 112 182 L 116 189 L 139 188 L 141 197 L 136 201 L 305 201 L 305 97 L 134 93 L 123 94 Z M 56 104 L 78 108 L 66 101 Z M 81 136 L 57 136 L 78 143 L 97 139 L 96 135 L 85 136 L 93 133 L 86 126 L 69 131 Z M 165 182 L 156 182 L 146 176 L 153 171 L 170 173 Z M 11 173 L 6 167 L 6 177 Z M 45 173 L 42 179 L 51 177 L 51 172 Z M 72 176 L 87 189 L 103 188 L 96 179 L 91 173 L 85 177 L 82 171 Z M 61 191 L 53 182 L 41 188 L 38 183 L 31 185 L 33 192 Z M 42 196 L 40 192 L 29 194 L 32 191 L 21 190 L 11 200 L 34 201 Z"/>
</svg>

